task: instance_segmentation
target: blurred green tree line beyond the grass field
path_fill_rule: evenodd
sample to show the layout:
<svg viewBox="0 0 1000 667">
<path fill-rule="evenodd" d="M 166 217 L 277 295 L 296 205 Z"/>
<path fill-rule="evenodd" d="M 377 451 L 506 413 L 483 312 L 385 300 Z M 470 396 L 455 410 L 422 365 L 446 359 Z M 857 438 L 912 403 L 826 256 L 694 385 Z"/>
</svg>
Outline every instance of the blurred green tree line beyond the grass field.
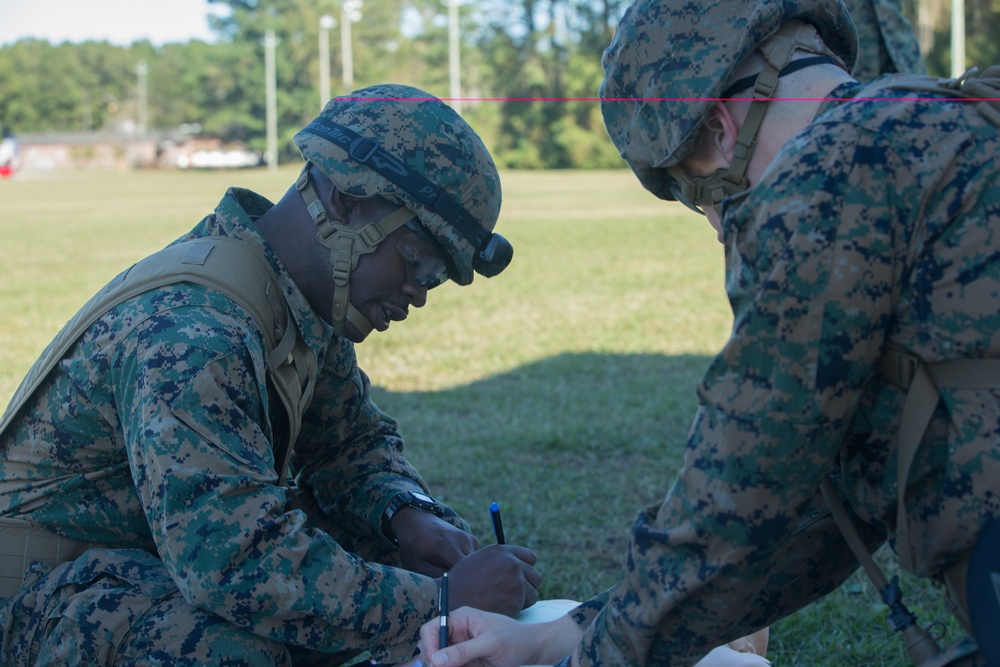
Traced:
<svg viewBox="0 0 1000 667">
<path fill-rule="evenodd" d="M 183 127 L 263 152 L 263 41 L 273 30 L 280 159 L 297 158 L 292 136 L 320 108 L 320 18 L 332 16 L 339 23 L 341 1 L 209 1 L 226 10 L 209 17 L 218 36 L 213 43 L 117 46 L 24 39 L 0 47 L 0 129 L 6 134 L 112 130 L 140 120 L 143 98 L 149 129 Z M 354 88 L 397 82 L 448 98 L 448 2 L 367 0 L 362 18 L 351 25 Z M 460 4 L 462 114 L 498 164 L 623 165 L 594 98 L 601 54 L 629 2 Z M 1000 62 L 1000 44 L 991 37 L 1000 34 L 1000 0 L 967 0 L 966 11 L 969 60 Z M 938 25 L 925 55 L 931 73 L 947 75 L 948 25 Z M 328 33 L 333 95 L 350 92 L 340 75 L 340 35 L 339 26 Z"/>
</svg>

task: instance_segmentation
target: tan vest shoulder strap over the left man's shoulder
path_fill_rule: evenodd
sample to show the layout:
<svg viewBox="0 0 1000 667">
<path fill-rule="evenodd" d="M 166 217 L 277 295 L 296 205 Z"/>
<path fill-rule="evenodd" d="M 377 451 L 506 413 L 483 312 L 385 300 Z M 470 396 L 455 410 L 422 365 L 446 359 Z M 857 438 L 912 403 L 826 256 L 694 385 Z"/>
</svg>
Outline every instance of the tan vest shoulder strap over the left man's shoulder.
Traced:
<svg viewBox="0 0 1000 667">
<path fill-rule="evenodd" d="M 144 292 L 179 282 L 197 283 L 223 294 L 249 312 L 264 335 L 268 377 L 289 421 L 286 442 L 276 443 L 275 447 L 275 462 L 283 482 L 302 413 L 312 399 L 316 357 L 296 335 L 278 278 L 263 253 L 236 238 L 210 237 L 177 243 L 115 277 L 66 323 L 28 371 L 0 417 L 0 434 L 98 318 Z"/>
</svg>

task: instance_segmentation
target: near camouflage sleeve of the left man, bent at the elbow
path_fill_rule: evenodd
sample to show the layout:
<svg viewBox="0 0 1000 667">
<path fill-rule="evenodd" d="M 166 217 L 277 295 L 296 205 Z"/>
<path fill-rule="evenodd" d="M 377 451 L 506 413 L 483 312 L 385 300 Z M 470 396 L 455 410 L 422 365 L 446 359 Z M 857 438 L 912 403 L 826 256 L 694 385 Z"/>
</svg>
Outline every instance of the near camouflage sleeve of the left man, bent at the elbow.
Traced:
<svg viewBox="0 0 1000 667">
<path fill-rule="evenodd" d="M 408 644 L 433 616 L 433 580 L 362 561 L 285 511 L 259 343 L 233 308 L 159 310 L 112 370 L 163 562 L 187 600 L 255 634 L 326 652 Z"/>
</svg>

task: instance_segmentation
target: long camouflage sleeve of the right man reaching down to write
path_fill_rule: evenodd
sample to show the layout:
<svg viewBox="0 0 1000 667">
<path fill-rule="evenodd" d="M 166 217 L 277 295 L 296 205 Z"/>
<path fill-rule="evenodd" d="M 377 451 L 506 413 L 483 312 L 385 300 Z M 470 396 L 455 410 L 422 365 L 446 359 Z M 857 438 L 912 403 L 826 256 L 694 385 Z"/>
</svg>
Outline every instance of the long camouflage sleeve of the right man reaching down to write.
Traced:
<svg viewBox="0 0 1000 667">
<path fill-rule="evenodd" d="M 582 665 L 690 664 L 733 639 L 834 463 L 889 326 L 907 245 L 897 200 L 913 193 L 894 190 L 898 159 L 876 137 L 824 132 L 724 211 L 733 330 Z"/>
</svg>

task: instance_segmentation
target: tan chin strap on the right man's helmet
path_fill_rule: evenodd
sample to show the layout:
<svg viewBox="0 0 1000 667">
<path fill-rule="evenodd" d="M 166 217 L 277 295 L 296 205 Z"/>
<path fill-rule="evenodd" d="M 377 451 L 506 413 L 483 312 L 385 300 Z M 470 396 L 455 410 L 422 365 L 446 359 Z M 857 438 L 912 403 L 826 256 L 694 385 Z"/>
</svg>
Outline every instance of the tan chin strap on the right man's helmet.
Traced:
<svg viewBox="0 0 1000 667">
<path fill-rule="evenodd" d="M 727 197 L 750 187 L 746 171 L 750 165 L 750 158 L 753 157 L 754 148 L 757 146 L 757 133 L 760 132 L 760 126 L 764 122 L 768 102 L 771 101 L 774 90 L 778 87 L 778 79 L 784 74 L 791 74 L 798 70 L 798 68 L 788 67 L 796 50 L 822 54 L 832 59 L 834 64 L 846 69 L 843 60 L 823 43 L 816 30 L 811 26 L 796 22 L 790 26 L 782 27 L 760 47 L 760 52 L 764 56 L 764 69 L 754 81 L 753 101 L 750 103 L 750 109 L 747 111 L 747 117 L 743 121 L 740 131 L 736 135 L 733 160 L 729 163 L 729 167 L 717 169 L 708 176 L 694 178 L 686 177 L 678 165 L 667 168 L 668 173 L 678 182 L 681 192 L 689 201 L 696 203 L 710 201 L 712 206 L 718 206 Z M 828 62 L 830 60 L 827 58 L 817 58 L 815 63 L 810 64 Z M 724 93 L 723 97 L 726 96 Z"/>
</svg>

